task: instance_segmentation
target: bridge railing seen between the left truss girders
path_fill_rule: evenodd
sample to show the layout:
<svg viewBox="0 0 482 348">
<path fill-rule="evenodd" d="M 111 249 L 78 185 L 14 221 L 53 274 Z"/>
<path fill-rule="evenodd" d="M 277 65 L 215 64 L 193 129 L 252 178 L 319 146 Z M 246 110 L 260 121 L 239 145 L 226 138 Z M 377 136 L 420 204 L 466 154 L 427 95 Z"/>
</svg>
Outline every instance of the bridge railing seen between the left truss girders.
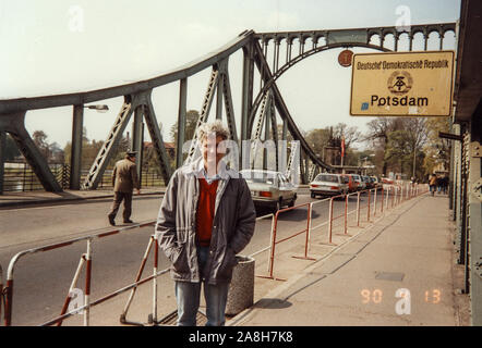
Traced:
<svg viewBox="0 0 482 348">
<path fill-rule="evenodd" d="M 70 183 L 70 165 L 63 163 L 49 164 L 50 171 L 57 178 L 62 189 L 69 188 Z M 88 169 L 82 170 L 81 183 L 83 183 L 88 174 Z M 153 171 L 143 171 L 141 174 L 142 187 L 164 186 L 162 176 Z M 112 170 L 106 170 L 98 188 L 112 187 Z M 3 174 L 3 191 L 35 191 L 44 190 L 44 186 L 35 175 L 34 171 L 27 163 L 7 162 Z"/>
</svg>

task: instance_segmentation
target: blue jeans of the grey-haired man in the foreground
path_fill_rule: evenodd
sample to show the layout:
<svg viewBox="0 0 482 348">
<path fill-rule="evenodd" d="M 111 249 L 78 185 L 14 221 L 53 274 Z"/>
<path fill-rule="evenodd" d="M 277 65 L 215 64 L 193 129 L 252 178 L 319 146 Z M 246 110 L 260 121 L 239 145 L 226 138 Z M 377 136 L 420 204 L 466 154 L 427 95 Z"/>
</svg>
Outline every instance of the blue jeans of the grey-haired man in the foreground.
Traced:
<svg viewBox="0 0 482 348">
<path fill-rule="evenodd" d="M 200 271 L 204 269 L 208 256 L 208 247 L 197 247 Z M 195 326 L 196 314 L 200 308 L 201 282 L 174 283 L 176 300 L 178 303 L 178 326 Z M 224 326 L 229 283 L 220 283 L 216 285 L 210 285 L 206 282 L 202 283 L 204 284 L 204 299 L 206 300 L 206 326 Z"/>
</svg>

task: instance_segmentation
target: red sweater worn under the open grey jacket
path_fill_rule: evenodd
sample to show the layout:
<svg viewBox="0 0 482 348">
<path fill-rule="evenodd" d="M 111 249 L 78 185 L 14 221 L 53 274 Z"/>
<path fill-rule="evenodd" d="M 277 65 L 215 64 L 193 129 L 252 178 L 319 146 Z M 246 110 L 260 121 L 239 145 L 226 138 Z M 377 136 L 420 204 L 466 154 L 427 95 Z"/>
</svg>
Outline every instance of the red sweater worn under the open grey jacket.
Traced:
<svg viewBox="0 0 482 348">
<path fill-rule="evenodd" d="M 213 233 L 216 190 L 219 181 L 215 181 L 210 185 L 207 184 L 204 177 L 198 181 L 200 198 L 197 200 L 196 211 L 196 240 L 202 247 L 208 247 Z"/>
</svg>

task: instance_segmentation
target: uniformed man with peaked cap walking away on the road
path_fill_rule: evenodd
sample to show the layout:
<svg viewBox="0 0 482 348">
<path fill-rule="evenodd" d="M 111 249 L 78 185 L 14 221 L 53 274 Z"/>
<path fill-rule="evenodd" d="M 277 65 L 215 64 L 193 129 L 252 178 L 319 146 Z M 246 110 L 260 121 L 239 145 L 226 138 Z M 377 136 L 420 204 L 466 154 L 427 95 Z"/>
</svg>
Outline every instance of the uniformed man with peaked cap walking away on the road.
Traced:
<svg viewBox="0 0 482 348">
<path fill-rule="evenodd" d="M 112 172 L 112 186 L 113 186 L 113 204 L 109 212 L 109 223 L 116 226 L 116 215 L 119 207 L 124 201 L 123 219 L 124 223 L 132 223 L 132 191 L 135 188 L 137 195 L 141 194 L 141 187 L 137 179 L 137 170 L 135 166 L 135 154 L 134 151 L 129 151 L 125 153 L 125 158 L 120 160 L 113 166 Z"/>
</svg>

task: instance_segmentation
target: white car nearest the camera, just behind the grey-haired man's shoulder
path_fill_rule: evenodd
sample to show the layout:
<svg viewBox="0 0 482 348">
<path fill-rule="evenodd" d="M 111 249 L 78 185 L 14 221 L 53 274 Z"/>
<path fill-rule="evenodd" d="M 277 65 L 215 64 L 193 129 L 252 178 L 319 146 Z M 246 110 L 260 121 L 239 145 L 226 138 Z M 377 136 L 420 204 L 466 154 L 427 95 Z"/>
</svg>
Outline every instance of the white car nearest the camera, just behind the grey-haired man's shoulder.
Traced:
<svg viewBox="0 0 482 348">
<path fill-rule="evenodd" d="M 276 212 L 284 206 L 294 206 L 297 187 L 282 173 L 263 170 L 243 170 L 240 173 L 248 183 L 256 208 L 269 208 Z"/>
</svg>

